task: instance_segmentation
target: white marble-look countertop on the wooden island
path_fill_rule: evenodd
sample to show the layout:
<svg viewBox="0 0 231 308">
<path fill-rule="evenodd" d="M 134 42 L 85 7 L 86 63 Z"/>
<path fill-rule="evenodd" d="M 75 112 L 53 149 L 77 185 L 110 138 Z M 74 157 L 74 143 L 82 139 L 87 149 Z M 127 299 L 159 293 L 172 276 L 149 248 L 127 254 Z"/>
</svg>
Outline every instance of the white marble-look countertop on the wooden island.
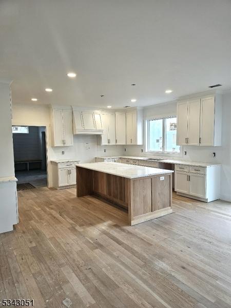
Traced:
<svg viewBox="0 0 231 308">
<path fill-rule="evenodd" d="M 119 176 L 127 179 L 136 179 L 136 178 L 156 176 L 162 174 L 164 175 L 174 172 L 172 170 L 144 167 L 138 165 L 128 165 L 121 163 L 112 163 L 112 162 L 78 164 L 76 166 L 104 172 L 110 175 Z"/>
</svg>

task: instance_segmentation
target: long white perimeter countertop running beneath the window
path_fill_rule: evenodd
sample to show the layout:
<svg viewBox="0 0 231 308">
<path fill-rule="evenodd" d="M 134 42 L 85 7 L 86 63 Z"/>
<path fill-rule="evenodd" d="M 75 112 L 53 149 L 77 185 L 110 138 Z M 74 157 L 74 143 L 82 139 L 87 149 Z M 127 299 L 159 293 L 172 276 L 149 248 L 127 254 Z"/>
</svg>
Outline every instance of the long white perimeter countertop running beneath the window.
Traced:
<svg viewBox="0 0 231 308">
<path fill-rule="evenodd" d="M 101 157 L 97 157 L 97 158 L 101 158 L 101 159 L 110 159 L 110 158 L 127 158 L 127 159 L 137 159 L 137 160 L 147 160 L 147 161 L 151 161 L 150 158 L 151 157 L 138 157 L 138 156 L 101 156 Z M 158 158 L 151 158 L 153 161 L 155 161 L 157 159 L 157 162 L 160 163 L 168 163 L 168 164 L 180 164 L 180 165 L 190 165 L 190 166 L 198 166 L 198 167 L 211 167 L 211 166 L 217 166 L 220 164 L 216 164 L 216 163 L 203 163 L 203 162 L 194 162 L 194 161 L 183 161 L 183 160 L 175 160 L 175 159 L 161 159 L 159 160 Z"/>
</svg>

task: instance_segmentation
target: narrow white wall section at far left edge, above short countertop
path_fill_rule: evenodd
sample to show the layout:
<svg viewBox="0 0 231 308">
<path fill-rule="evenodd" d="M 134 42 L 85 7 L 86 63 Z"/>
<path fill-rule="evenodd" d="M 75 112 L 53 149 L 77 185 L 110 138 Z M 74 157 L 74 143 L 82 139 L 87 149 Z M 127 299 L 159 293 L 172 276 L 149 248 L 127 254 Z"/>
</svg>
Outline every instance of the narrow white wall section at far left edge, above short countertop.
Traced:
<svg viewBox="0 0 231 308">
<path fill-rule="evenodd" d="M 14 176 L 10 85 L 0 83 L 0 177 Z"/>
</svg>

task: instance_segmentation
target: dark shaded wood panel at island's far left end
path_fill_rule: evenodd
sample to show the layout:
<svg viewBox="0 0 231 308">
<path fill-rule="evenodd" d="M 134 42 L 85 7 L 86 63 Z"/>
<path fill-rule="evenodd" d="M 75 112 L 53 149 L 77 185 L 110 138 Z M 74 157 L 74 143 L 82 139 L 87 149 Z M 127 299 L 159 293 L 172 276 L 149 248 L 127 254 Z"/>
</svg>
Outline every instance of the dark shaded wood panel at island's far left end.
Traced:
<svg viewBox="0 0 231 308">
<path fill-rule="evenodd" d="M 93 194 L 93 171 L 76 166 L 77 197 Z"/>
</svg>

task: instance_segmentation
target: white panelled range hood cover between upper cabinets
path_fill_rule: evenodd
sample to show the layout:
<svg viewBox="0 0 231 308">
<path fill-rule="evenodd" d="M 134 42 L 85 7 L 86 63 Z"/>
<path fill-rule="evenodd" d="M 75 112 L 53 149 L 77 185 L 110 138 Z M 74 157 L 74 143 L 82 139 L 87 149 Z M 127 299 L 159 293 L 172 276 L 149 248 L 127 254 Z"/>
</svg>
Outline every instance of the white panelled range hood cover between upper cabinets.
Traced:
<svg viewBox="0 0 231 308">
<path fill-rule="evenodd" d="M 102 134 L 102 117 L 99 111 L 80 110 L 72 107 L 74 134 Z"/>
</svg>

